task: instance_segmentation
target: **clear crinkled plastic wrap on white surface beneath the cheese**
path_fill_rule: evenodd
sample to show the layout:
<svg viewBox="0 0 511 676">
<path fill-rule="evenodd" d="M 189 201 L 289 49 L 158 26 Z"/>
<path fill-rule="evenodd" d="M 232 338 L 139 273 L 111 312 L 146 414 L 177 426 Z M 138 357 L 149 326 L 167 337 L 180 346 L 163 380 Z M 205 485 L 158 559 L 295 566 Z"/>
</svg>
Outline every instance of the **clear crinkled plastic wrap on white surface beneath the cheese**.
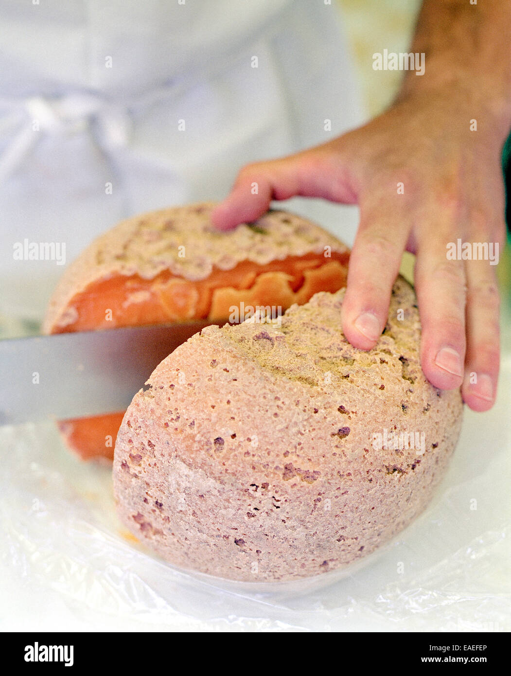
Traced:
<svg viewBox="0 0 511 676">
<path fill-rule="evenodd" d="M 511 356 L 497 404 L 466 410 L 435 500 L 355 569 L 258 587 L 172 568 L 117 521 L 110 468 L 51 421 L 0 429 L 2 629 L 509 631 Z"/>
</svg>

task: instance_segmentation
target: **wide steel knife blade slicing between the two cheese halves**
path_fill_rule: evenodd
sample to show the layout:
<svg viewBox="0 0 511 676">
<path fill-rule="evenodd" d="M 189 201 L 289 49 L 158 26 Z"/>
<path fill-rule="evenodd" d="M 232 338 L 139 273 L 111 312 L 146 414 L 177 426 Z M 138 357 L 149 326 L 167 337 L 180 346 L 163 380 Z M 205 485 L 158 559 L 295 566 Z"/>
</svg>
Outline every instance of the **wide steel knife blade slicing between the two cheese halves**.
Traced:
<svg viewBox="0 0 511 676">
<path fill-rule="evenodd" d="M 1 339 L 0 425 L 124 410 L 166 356 L 211 324 Z"/>
</svg>

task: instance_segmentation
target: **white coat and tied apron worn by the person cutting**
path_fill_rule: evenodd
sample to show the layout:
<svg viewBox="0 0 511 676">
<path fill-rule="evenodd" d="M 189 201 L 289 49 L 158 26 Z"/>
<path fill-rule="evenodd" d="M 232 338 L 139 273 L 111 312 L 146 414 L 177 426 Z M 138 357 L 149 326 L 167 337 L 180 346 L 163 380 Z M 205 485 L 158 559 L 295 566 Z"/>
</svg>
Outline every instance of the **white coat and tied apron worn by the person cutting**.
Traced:
<svg viewBox="0 0 511 676">
<path fill-rule="evenodd" d="M 41 318 L 64 269 L 15 243 L 65 243 L 68 264 L 360 124 L 338 20 L 324 0 L 0 0 L 0 313 Z"/>
</svg>

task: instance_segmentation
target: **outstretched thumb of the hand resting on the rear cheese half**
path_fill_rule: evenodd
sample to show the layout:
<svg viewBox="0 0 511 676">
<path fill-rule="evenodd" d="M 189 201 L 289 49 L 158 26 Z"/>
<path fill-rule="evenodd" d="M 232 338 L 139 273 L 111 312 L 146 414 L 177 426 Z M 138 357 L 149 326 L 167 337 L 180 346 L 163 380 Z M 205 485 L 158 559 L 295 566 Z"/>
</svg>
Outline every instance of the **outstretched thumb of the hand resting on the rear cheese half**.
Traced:
<svg viewBox="0 0 511 676">
<path fill-rule="evenodd" d="M 286 158 L 247 164 L 230 194 L 212 212 L 211 220 L 218 229 L 230 230 L 262 216 L 272 199 L 296 195 L 356 203 L 353 181 L 338 145 L 325 144 Z"/>
</svg>

